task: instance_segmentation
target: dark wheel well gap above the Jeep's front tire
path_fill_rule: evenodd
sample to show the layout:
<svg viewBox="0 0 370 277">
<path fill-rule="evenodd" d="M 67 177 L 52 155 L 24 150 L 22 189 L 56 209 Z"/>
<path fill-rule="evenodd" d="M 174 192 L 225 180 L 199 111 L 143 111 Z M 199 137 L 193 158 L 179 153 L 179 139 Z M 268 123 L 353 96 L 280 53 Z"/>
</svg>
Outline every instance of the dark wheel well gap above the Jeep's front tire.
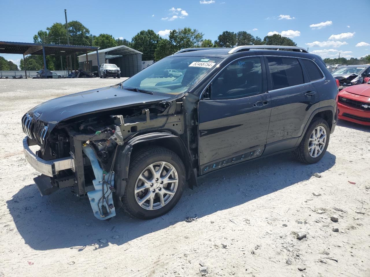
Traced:
<svg viewBox="0 0 370 277">
<path fill-rule="evenodd" d="M 134 147 L 132 148 L 130 163 L 135 156 L 139 155 L 141 152 L 147 150 L 148 148 L 155 146 L 160 146 L 175 152 L 181 158 L 182 162 L 185 165 L 185 179 L 190 178 L 192 172 L 190 158 L 188 151 L 186 150 L 186 147 L 180 138 L 159 138 L 134 144 Z"/>
</svg>

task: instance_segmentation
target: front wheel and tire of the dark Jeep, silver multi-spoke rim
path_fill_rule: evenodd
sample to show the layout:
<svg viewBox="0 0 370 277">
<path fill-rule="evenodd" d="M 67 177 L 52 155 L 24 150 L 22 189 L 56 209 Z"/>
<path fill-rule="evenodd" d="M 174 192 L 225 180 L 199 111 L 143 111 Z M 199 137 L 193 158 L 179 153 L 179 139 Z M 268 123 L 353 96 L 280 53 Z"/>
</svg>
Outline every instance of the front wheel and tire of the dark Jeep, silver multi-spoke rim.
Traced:
<svg viewBox="0 0 370 277">
<path fill-rule="evenodd" d="M 169 212 L 184 189 L 185 167 L 174 152 L 154 147 L 132 158 L 123 208 L 140 219 L 152 219 Z"/>
</svg>

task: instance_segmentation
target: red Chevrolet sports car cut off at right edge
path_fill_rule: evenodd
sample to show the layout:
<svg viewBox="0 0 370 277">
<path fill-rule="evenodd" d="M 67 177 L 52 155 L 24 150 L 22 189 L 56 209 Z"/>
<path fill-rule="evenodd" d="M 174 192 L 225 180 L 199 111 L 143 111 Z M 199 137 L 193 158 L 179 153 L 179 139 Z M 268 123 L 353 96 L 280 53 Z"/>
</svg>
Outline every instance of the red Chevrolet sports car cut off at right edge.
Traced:
<svg viewBox="0 0 370 277">
<path fill-rule="evenodd" d="M 366 81 L 338 93 L 339 119 L 370 126 L 370 78 Z"/>
</svg>

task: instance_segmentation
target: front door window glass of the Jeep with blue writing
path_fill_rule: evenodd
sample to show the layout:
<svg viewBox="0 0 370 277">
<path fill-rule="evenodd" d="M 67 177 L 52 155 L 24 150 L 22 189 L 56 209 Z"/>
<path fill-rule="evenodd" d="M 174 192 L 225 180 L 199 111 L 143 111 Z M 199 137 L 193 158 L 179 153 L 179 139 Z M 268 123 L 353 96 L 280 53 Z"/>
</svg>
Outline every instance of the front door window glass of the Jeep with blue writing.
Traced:
<svg viewBox="0 0 370 277">
<path fill-rule="evenodd" d="M 211 86 L 212 99 L 242 98 L 262 93 L 262 68 L 259 57 L 233 61 L 222 69 Z"/>
</svg>

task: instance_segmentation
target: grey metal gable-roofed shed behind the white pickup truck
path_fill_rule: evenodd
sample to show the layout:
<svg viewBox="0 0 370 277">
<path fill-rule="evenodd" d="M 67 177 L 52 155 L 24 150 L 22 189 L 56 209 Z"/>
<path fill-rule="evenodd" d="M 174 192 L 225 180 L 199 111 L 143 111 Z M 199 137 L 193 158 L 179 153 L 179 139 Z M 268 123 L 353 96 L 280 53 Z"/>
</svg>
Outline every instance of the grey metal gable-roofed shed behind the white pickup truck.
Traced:
<svg viewBox="0 0 370 277">
<path fill-rule="evenodd" d="M 132 49 L 126 45 L 100 49 L 87 54 L 88 67 L 92 71 L 98 71 L 100 64 L 115 64 L 121 69 L 122 77 L 131 77 L 141 71 L 142 52 Z M 97 59 L 98 58 L 98 59 Z M 100 61 L 100 64 L 98 64 Z M 86 55 L 78 56 L 80 69 L 85 69 Z"/>
</svg>

